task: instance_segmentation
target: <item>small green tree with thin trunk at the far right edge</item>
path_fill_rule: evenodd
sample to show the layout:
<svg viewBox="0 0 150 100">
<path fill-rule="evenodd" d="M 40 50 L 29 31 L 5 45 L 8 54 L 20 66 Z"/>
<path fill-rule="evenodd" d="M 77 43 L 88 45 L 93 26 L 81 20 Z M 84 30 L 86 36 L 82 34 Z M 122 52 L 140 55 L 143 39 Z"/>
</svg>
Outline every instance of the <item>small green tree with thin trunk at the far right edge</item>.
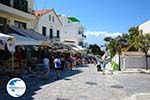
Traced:
<svg viewBox="0 0 150 100">
<path fill-rule="evenodd" d="M 135 37 L 135 47 L 140 49 L 145 54 L 145 61 L 146 61 L 146 69 L 148 69 L 148 50 L 150 50 L 150 34 L 143 34 L 142 32 L 139 32 L 140 34 Z"/>
</svg>

